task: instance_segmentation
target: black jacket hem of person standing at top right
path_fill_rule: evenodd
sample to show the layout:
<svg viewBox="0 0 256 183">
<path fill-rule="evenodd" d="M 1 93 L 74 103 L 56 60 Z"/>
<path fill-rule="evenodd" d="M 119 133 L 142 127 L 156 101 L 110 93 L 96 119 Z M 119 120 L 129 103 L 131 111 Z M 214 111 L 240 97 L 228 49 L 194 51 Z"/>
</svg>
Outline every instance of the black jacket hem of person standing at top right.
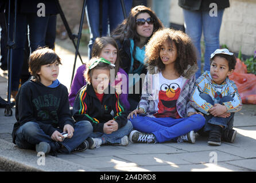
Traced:
<svg viewBox="0 0 256 183">
<path fill-rule="evenodd" d="M 211 3 L 216 3 L 218 10 L 230 7 L 228 0 L 179 0 L 179 6 L 187 10 L 210 11 Z"/>
</svg>

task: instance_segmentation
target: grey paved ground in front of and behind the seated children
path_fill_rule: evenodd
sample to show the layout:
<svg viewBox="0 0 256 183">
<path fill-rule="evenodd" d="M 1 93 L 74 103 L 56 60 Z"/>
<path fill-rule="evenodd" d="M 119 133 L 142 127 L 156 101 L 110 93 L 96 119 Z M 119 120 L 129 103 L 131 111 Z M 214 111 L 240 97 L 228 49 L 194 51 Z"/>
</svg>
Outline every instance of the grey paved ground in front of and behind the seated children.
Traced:
<svg viewBox="0 0 256 183">
<path fill-rule="evenodd" d="M 65 45 L 69 44 L 66 41 Z M 60 43 L 60 42 L 59 42 Z M 61 43 L 60 43 L 61 44 Z M 70 51 L 69 51 L 70 50 Z M 70 86 L 75 51 L 56 45 L 63 61 L 59 80 Z M 87 57 L 83 57 L 86 61 Z M 81 65 L 77 59 L 78 67 Z M 3 73 L 0 74 L 5 76 Z M 6 98 L 7 79 L 0 77 L 0 96 Z M 165 172 L 165 171 L 256 171 L 256 105 L 243 105 L 235 114 L 234 144 L 207 145 L 207 138 L 197 136 L 195 144 L 166 142 L 163 144 L 103 145 L 96 149 L 57 157 L 40 156 L 32 150 L 19 149 L 12 143 L 13 116 L 5 117 L 0 109 L 0 169 L 17 171 L 90 171 L 90 172 Z"/>
</svg>

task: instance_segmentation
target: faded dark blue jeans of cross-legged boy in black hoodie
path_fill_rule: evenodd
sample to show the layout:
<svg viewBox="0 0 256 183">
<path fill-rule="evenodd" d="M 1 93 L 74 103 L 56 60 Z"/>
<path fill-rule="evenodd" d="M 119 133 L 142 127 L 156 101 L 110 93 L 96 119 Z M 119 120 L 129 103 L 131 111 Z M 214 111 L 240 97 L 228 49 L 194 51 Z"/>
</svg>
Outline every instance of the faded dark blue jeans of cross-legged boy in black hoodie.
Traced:
<svg viewBox="0 0 256 183">
<path fill-rule="evenodd" d="M 56 129 L 63 132 L 63 129 Z M 92 133 L 92 126 L 90 122 L 79 121 L 74 126 L 72 138 L 65 138 L 60 142 L 71 153 L 73 149 L 82 144 L 84 140 Z M 47 142 L 50 145 L 55 143 L 50 136 L 44 133 L 36 122 L 26 122 L 16 132 L 15 143 L 22 149 L 35 149 L 36 144 L 40 142 Z"/>
</svg>

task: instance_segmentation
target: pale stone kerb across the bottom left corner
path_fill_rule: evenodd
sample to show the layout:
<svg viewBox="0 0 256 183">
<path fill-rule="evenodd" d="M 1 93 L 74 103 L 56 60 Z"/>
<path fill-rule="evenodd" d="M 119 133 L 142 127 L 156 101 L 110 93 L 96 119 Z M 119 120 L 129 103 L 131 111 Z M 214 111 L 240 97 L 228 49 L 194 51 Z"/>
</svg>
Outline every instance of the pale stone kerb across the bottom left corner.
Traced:
<svg viewBox="0 0 256 183">
<path fill-rule="evenodd" d="M 17 148 L 13 144 L 0 139 L 0 169 L 11 171 L 98 171 L 77 165 L 71 161 L 62 160 L 53 156 L 37 156 L 34 150 Z M 38 160 L 38 158 L 40 158 Z M 41 165 L 40 165 L 41 164 Z"/>
</svg>

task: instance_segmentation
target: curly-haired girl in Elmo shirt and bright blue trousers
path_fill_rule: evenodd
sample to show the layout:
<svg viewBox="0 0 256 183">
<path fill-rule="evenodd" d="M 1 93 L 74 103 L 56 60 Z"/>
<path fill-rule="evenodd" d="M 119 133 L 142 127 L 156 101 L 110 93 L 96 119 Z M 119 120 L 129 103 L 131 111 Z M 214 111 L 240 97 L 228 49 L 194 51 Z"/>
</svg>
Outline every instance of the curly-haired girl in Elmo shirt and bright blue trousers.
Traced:
<svg viewBox="0 0 256 183">
<path fill-rule="evenodd" d="M 182 31 L 158 30 L 146 46 L 145 59 L 148 73 L 141 101 L 128 116 L 135 129 L 130 141 L 195 143 L 205 119 L 189 104 L 197 70 L 191 39 Z"/>
</svg>

